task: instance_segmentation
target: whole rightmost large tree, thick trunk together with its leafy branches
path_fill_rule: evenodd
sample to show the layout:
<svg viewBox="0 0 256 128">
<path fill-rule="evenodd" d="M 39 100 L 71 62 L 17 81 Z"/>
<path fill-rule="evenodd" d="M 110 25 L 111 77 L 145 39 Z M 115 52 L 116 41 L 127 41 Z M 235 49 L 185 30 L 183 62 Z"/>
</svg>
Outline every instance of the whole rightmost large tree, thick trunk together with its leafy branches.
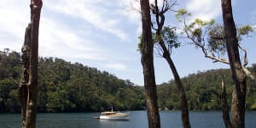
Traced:
<svg viewBox="0 0 256 128">
<path fill-rule="evenodd" d="M 222 1 L 224 26 L 214 24 L 214 20 L 204 21 L 195 19 L 188 24 L 188 17 L 191 15 L 185 9 L 177 11 L 177 20 L 183 22 L 183 34 L 189 38 L 189 44 L 201 49 L 206 58 L 213 62 L 222 62 L 230 65 L 232 79 L 235 84 L 232 94 L 232 125 L 227 127 L 244 127 L 244 110 L 246 98 L 246 75 L 255 80 L 253 73 L 247 69 L 247 50 L 241 47 L 243 36 L 253 32 L 252 26 L 235 26 L 231 1 Z M 239 51 L 243 53 L 243 64 L 241 64 Z M 228 55 L 229 59 L 225 58 Z M 222 90 L 222 103 L 224 103 L 224 90 Z M 223 110 L 228 108 L 223 106 Z M 227 115 L 225 115 L 227 114 Z M 224 117 L 229 116 L 224 113 Z M 224 119 L 226 120 L 226 119 Z M 229 120 L 230 121 L 230 120 Z M 227 122 L 229 122 L 227 121 Z M 226 121 L 225 121 L 226 122 Z M 229 123 L 225 123 L 229 124 Z"/>
</svg>

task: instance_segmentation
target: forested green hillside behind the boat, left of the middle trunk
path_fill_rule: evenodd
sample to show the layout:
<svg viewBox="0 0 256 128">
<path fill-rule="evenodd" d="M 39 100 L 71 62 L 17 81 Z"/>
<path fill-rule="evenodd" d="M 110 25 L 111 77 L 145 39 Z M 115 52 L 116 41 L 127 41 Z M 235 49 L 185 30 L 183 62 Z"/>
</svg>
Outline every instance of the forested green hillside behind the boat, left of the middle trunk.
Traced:
<svg viewBox="0 0 256 128">
<path fill-rule="evenodd" d="M 20 112 L 20 54 L 0 54 L 0 112 Z M 144 108 L 143 90 L 129 80 L 59 58 L 40 58 L 39 112 L 102 111 Z"/>
</svg>

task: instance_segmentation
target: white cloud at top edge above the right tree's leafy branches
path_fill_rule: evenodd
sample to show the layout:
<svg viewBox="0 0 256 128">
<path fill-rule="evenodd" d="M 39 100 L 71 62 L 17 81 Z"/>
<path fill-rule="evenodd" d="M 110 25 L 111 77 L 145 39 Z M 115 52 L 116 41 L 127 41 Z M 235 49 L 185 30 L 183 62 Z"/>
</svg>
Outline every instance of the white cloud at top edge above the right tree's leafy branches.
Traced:
<svg viewBox="0 0 256 128">
<path fill-rule="evenodd" d="M 221 4 L 216 0 L 189 0 L 186 9 L 192 14 L 193 19 L 211 20 L 221 15 Z"/>
</svg>

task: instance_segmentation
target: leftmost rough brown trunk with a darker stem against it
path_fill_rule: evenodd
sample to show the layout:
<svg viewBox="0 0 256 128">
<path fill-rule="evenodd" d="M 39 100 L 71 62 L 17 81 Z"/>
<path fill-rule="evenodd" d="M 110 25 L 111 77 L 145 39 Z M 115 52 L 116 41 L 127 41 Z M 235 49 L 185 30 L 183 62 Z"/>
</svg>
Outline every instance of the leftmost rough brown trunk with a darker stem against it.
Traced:
<svg viewBox="0 0 256 128">
<path fill-rule="evenodd" d="M 25 42 L 21 49 L 23 76 L 21 77 L 19 92 L 23 128 L 36 127 L 38 87 L 38 32 L 42 6 L 42 0 L 31 0 L 31 23 L 26 28 Z"/>
</svg>

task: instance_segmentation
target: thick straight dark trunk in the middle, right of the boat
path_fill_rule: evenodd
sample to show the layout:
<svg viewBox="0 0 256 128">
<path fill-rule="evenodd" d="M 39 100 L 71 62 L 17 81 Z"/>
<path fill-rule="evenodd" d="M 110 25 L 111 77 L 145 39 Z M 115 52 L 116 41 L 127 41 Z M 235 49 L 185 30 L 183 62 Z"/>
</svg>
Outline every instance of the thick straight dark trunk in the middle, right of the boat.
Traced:
<svg viewBox="0 0 256 128">
<path fill-rule="evenodd" d="M 160 115 L 157 105 L 156 85 L 154 78 L 153 41 L 151 32 L 151 18 L 148 0 L 140 0 L 143 24 L 142 64 L 144 74 L 144 88 L 148 113 L 148 127 L 160 128 Z"/>
</svg>

